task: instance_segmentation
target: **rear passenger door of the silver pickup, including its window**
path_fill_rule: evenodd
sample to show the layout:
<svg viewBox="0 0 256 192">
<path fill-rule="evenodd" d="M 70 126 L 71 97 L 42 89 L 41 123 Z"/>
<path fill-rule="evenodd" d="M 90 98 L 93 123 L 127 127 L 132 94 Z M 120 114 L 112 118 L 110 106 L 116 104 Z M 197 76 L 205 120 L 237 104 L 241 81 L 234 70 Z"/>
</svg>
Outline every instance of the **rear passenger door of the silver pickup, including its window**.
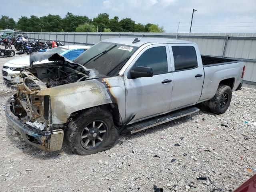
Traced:
<svg viewBox="0 0 256 192">
<path fill-rule="evenodd" d="M 204 82 L 204 69 L 195 44 L 169 44 L 173 88 L 170 110 L 198 102 Z"/>
</svg>

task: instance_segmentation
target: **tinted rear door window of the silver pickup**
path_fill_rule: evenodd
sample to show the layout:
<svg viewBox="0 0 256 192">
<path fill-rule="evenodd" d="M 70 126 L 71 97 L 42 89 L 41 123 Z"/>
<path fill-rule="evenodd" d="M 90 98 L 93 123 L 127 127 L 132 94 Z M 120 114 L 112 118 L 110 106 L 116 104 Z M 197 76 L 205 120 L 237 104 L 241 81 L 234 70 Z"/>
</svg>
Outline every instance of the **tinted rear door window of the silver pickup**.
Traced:
<svg viewBox="0 0 256 192">
<path fill-rule="evenodd" d="M 196 50 L 193 46 L 172 46 L 175 70 L 197 67 Z"/>
</svg>

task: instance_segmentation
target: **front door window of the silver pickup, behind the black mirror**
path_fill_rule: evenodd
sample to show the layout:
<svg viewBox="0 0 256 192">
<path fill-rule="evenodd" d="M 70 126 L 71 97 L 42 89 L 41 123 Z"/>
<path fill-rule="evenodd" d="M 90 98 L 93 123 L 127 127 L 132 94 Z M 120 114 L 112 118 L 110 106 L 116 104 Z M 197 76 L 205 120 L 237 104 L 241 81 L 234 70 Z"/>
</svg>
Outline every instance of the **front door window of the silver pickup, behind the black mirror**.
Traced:
<svg viewBox="0 0 256 192">
<path fill-rule="evenodd" d="M 167 72 L 166 48 L 164 46 L 149 48 L 138 58 L 132 68 L 136 66 L 151 67 L 154 75 Z"/>
</svg>

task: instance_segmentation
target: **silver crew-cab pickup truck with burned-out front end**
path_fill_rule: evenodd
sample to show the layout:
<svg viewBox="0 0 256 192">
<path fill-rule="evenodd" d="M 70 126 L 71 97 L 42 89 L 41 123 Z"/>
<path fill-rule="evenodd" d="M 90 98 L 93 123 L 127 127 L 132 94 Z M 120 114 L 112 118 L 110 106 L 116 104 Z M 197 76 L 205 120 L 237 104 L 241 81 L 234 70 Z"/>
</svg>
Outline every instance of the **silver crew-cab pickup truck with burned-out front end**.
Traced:
<svg viewBox="0 0 256 192">
<path fill-rule="evenodd" d="M 46 58 L 54 62 L 33 66 Z M 196 43 L 173 39 L 106 39 L 74 62 L 35 53 L 14 78 L 6 118 L 41 150 L 60 150 L 65 136 L 73 152 L 94 154 L 118 134 L 198 112 L 201 102 L 226 112 L 244 70 L 242 61 L 202 56 Z"/>
</svg>

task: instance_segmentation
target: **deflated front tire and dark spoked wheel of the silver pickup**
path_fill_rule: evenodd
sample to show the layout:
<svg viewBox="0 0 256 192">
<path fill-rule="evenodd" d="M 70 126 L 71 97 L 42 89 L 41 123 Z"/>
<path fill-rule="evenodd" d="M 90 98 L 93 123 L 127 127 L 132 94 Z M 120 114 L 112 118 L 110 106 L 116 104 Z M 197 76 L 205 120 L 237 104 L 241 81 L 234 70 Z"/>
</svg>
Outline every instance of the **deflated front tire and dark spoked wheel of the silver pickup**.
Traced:
<svg viewBox="0 0 256 192">
<path fill-rule="evenodd" d="M 72 152 L 90 155 L 111 148 L 118 137 L 118 131 L 112 114 L 108 110 L 95 107 L 70 121 L 64 135 Z"/>
</svg>

